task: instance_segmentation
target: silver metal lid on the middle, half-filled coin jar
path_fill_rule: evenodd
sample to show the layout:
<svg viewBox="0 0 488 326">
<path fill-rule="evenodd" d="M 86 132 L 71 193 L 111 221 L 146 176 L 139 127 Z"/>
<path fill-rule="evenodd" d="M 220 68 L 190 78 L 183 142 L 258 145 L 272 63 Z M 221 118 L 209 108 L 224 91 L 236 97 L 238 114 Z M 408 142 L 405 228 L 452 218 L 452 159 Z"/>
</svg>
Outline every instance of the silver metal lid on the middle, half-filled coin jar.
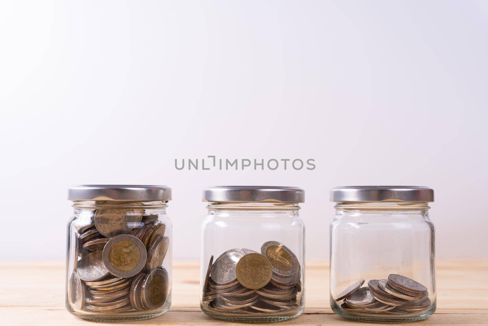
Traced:
<svg viewBox="0 0 488 326">
<path fill-rule="evenodd" d="M 298 187 L 215 186 L 203 190 L 203 201 L 303 203 L 305 191 Z"/>
</svg>

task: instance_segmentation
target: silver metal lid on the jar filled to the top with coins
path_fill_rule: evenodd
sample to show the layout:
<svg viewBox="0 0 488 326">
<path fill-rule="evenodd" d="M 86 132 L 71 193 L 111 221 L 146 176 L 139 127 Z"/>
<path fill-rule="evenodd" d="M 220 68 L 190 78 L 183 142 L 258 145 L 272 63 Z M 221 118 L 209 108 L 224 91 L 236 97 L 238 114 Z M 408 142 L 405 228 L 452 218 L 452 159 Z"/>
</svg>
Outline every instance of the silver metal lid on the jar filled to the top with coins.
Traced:
<svg viewBox="0 0 488 326">
<path fill-rule="evenodd" d="M 68 189 L 69 200 L 171 200 L 168 186 L 82 185 Z"/>
</svg>

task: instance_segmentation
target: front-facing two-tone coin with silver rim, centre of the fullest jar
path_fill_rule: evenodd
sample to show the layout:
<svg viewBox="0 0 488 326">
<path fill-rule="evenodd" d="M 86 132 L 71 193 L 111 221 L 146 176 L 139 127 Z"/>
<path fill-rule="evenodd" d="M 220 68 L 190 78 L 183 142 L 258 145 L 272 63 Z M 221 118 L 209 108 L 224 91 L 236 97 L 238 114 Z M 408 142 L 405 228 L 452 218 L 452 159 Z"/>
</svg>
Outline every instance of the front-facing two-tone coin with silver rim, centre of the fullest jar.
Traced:
<svg viewBox="0 0 488 326">
<path fill-rule="evenodd" d="M 102 259 L 110 274 L 127 278 L 144 268 L 147 252 L 141 240 L 123 234 L 107 242 L 103 248 Z"/>
</svg>

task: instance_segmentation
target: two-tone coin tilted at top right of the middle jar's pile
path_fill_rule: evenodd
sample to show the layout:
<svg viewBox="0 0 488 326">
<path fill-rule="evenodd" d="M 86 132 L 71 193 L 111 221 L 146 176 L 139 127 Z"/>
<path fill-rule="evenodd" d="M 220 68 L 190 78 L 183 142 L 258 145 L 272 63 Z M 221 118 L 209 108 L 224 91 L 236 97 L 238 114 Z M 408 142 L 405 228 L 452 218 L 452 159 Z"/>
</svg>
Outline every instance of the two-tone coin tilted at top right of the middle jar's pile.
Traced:
<svg viewBox="0 0 488 326">
<path fill-rule="evenodd" d="M 297 257 L 281 242 L 264 242 L 261 254 L 269 260 L 273 272 L 278 276 L 287 277 L 298 272 L 300 264 Z"/>
</svg>

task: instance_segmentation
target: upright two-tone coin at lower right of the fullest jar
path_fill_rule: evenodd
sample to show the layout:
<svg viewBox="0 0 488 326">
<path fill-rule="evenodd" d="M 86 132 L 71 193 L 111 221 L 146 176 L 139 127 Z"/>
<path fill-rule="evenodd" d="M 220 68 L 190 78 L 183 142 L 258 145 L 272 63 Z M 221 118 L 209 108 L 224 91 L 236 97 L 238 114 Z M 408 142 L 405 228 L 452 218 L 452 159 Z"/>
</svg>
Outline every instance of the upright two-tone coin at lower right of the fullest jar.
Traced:
<svg viewBox="0 0 488 326">
<path fill-rule="evenodd" d="M 142 302 L 149 309 L 161 307 L 166 302 L 169 279 L 164 269 L 155 269 L 142 283 Z"/>
</svg>

